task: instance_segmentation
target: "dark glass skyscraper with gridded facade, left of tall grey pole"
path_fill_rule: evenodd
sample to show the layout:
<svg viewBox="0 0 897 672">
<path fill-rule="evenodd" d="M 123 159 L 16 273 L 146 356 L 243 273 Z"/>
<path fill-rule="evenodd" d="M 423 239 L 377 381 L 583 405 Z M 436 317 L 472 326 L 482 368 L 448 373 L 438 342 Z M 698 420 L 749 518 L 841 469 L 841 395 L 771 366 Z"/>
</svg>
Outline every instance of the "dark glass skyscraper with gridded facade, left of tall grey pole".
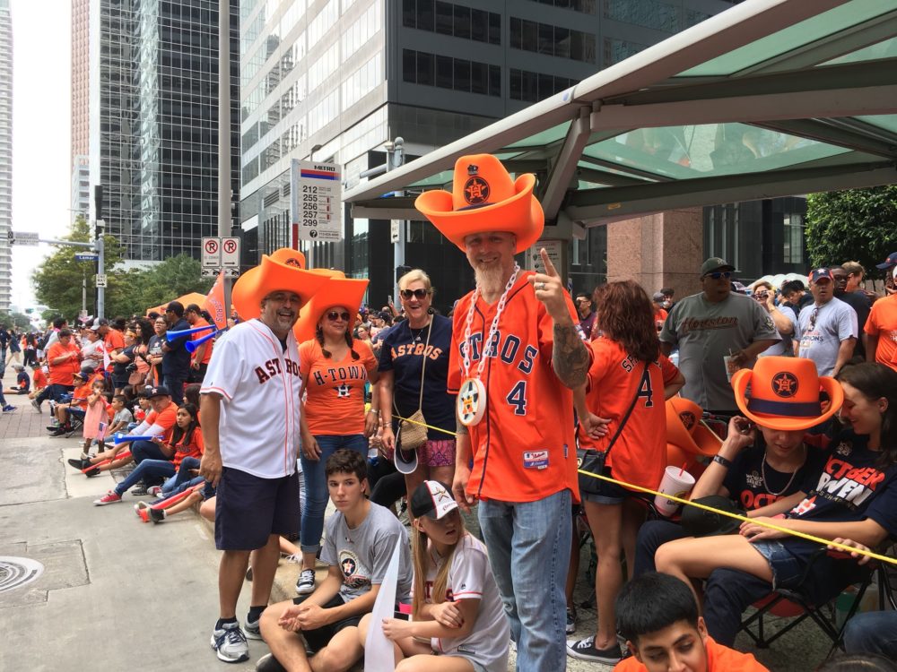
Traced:
<svg viewBox="0 0 897 672">
<path fill-rule="evenodd" d="M 217 0 L 90 0 L 90 183 L 126 261 L 198 258 L 217 230 Z M 231 168 L 239 166 L 231 0 Z M 233 181 L 234 198 L 239 182 Z"/>
</svg>

